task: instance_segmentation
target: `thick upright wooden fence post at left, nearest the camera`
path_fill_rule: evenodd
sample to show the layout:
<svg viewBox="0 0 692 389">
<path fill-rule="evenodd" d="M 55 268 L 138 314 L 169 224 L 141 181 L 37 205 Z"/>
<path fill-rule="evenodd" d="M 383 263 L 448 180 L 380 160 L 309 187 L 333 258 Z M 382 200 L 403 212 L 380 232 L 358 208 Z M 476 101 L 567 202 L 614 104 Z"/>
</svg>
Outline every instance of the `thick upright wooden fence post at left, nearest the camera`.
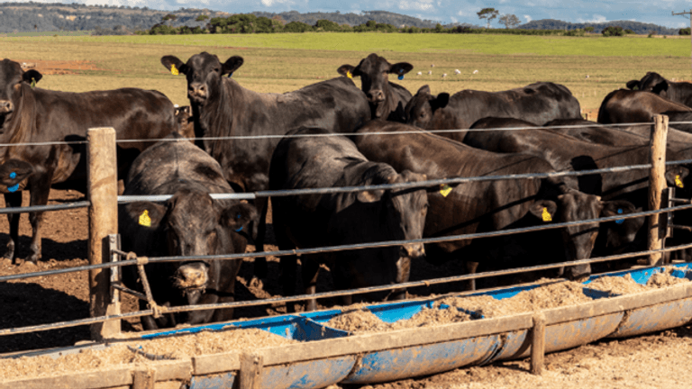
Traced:
<svg viewBox="0 0 692 389">
<path fill-rule="evenodd" d="M 115 130 L 95 128 L 87 131 L 87 196 L 89 207 L 89 263 L 110 261 L 110 234 L 118 233 L 118 169 L 115 161 Z M 89 271 L 89 312 L 92 317 L 116 314 L 118 304 L 111 304 L 111 272 Z M 120 333 L 120 321 L 92 324 L 92 339 L 113 338 Z"/>
</svg>

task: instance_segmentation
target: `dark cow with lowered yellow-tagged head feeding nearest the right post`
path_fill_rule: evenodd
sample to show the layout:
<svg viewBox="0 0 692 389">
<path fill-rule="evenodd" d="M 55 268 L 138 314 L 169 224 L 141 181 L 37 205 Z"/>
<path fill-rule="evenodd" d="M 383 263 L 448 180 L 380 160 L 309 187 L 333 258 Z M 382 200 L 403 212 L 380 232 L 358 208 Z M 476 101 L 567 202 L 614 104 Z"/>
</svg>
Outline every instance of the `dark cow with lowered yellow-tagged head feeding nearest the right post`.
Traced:
<svg viewBox="0 0 692 389">
<path fill-rule="evenodd" d="M 542 158 L 496 154 L 425 132 L 396 134 L 397 131 L 415 130 L 405 124 L 373 121 L 361 128 L 357 132 L 360 136 L 353 139 L 367 158 L 390 164 L 397 171 L 409 169 L 422 173 L 430 179 L 555 171 Z M 391 133 L 363 136 L 382 131 Z M 596 195 L 585 195 L 569 189 L 554 178 L 443 186 L 439 191 L 428 193 L 428 202 L 430 207 L 424 237 L 499 231 L 615 214 L 612 205 L 601 202 Z M 464 260 L 469 272 L 473 273 L 479 263 L 490 268 L 516 267 L 527 262 L 535 264 L 588 258 L 597 230 L 597 223 L 588 223 L 507 238 L 435 243 L 426 245 L 425 251 L 426 258 L 432 263 Z M 566 270 L 571 278 L 590 273 L 589 266 L 568 267 Z"/>
</svg>

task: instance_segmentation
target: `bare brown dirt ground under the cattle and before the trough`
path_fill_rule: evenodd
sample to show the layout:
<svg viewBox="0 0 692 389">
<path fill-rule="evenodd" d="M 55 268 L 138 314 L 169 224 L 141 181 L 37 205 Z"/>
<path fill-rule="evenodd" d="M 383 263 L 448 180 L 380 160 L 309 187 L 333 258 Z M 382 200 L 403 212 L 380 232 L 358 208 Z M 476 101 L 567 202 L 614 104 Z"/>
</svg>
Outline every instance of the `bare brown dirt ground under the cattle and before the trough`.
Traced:
<svg viewBox="0 0 692 389">
<path fill-rule="evenodd" d="M 54 190 L 50 204 L 62 204 L 82 198 L 74 191 Z M 24 195 L 24 205 L 28 196 Z M 0 205 L 2 202 L 0 201 Z M 0 246 L 8 239 L 8 224 L 0 218 Z M 31 228 L 22 216 L 20 258 L 28 254 Z M 43 229 L 43 258 L 38 266 L 24 263 L 13 266 L 0 259 L 0 275 L 87 265 L 87 210 L 67 210 L 46 214 Z M 269 280 L 263 288 L 250 286 L 252 267 L 245 264 L 237 285 L 239 300 L 256 300 L 279 294 L 278 262 L 269 262 Z M 461 274 L 462 268 L 448 264 L 432 267 L 414 263 L 412 278 Z M 323 271 L 318 289 L 328 290 L 331 279 Z M 411 290 L 414 295 L 442 294 L 462 290 L 463 285 L 431 286 Z M 0 329 L 70 321 L 88 317 L 87 272 L 59 276 L 41 276 L 0 283 Z M 322 307 L 337 301 L 322 301 Z M 135 301 L 126 297 L 123 312 L 135 310 Z M 260 306 L 236 310 L 236 317 L 259 317 L 286 312 L 285 306 Z M 123 321 L 123 330 L 139 330 L 137 320 Z M 38 348 L 69 346 L 89 339 L 87 326 L 42 331 L 29 335 L 4 336 L 0 354 Z M 378 389 L 407 388 L 687 388 L 692 380 L 692 328 L 680 327 L 633 339 L 609 339 L 546 356 L 542 376 L 528 373 L 528 360 L 496 363 L 492 366 L 460 368 L 451 372 L 408 379 L 395 383 L 364 386 Z M 356 386 L 357 387 L 357 386 Z"/>
</svg>

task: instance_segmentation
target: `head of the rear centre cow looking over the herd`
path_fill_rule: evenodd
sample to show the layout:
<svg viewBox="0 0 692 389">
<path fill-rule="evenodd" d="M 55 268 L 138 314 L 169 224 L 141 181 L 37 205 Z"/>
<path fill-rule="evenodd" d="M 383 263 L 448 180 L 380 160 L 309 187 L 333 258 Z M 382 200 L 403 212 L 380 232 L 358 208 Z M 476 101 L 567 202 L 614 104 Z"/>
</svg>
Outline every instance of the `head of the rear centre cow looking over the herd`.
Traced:
<svg viewBox="0 0 692 389">
<path fill-rule="evenodd" d="M 361 59 L 357 67 L 341 65 L 337 72 L 341 76 L 360 77 L 360 89 L 368 97 L 372 118 L 387 119 L 389 114 L 387 96 L 391 95 L 389 91 L 389 75 L 393 74 L 396 77 L 403 77 L 413 68 L 414 66 L 408 62 L 398 62 L 392 65 L 387 59 L 372 53 L 365 59 Z"/>
</svg>

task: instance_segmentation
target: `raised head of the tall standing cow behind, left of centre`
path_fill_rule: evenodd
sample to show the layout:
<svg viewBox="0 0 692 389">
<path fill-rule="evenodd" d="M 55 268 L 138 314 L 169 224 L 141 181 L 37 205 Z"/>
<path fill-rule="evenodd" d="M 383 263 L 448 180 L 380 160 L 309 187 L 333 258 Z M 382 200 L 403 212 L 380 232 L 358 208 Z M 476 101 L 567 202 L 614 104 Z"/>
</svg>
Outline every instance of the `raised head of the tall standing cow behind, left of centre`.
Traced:
<svg viewBox="0 0 692 389">
<path fill-rule="evenodd" d="M 208 101 L 221 94 L 223 76 L 231 76 L 240 68 L 242 58 L 233 56 L 221 63 L 214 54 L 202 52 L 187 59 L 186 63 L 175 56 L 162 57 L 161 63 L 171 73 L 185 75 L 190 104 L 205 106 Z"/>
</svg>

